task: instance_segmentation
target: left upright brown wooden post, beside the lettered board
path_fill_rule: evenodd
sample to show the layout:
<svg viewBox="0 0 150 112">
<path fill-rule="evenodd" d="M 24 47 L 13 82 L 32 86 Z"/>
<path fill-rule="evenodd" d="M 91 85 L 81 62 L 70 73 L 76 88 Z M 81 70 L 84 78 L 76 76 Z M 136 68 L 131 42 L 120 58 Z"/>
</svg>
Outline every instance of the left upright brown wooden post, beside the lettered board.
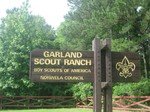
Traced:
<svg viewBox="0 0 150 112">
<path fill-rule="evenodd" d="M 93 40 L 92 49 L 94 51 L 93 110 L 94 112 L 101 112 L 101 49 L 99 38 Z"/>
</svg>

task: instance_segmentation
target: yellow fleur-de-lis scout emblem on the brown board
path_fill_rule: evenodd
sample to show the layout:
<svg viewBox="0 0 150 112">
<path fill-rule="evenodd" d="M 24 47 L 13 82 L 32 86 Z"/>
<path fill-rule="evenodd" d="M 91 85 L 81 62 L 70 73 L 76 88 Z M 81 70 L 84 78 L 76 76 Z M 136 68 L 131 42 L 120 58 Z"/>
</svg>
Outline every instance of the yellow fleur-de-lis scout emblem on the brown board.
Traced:
<svg viewBox="0 0 150 112">
<path fill-rule="evenodd" d="M 116 63 L 116 69 L 119 71 L 121 77 L 131 77 L 132 73 L 135 70 L 135 64 L 129 62 L 128 58 L 125 56 L 122 62 Z"/>
</svg>

